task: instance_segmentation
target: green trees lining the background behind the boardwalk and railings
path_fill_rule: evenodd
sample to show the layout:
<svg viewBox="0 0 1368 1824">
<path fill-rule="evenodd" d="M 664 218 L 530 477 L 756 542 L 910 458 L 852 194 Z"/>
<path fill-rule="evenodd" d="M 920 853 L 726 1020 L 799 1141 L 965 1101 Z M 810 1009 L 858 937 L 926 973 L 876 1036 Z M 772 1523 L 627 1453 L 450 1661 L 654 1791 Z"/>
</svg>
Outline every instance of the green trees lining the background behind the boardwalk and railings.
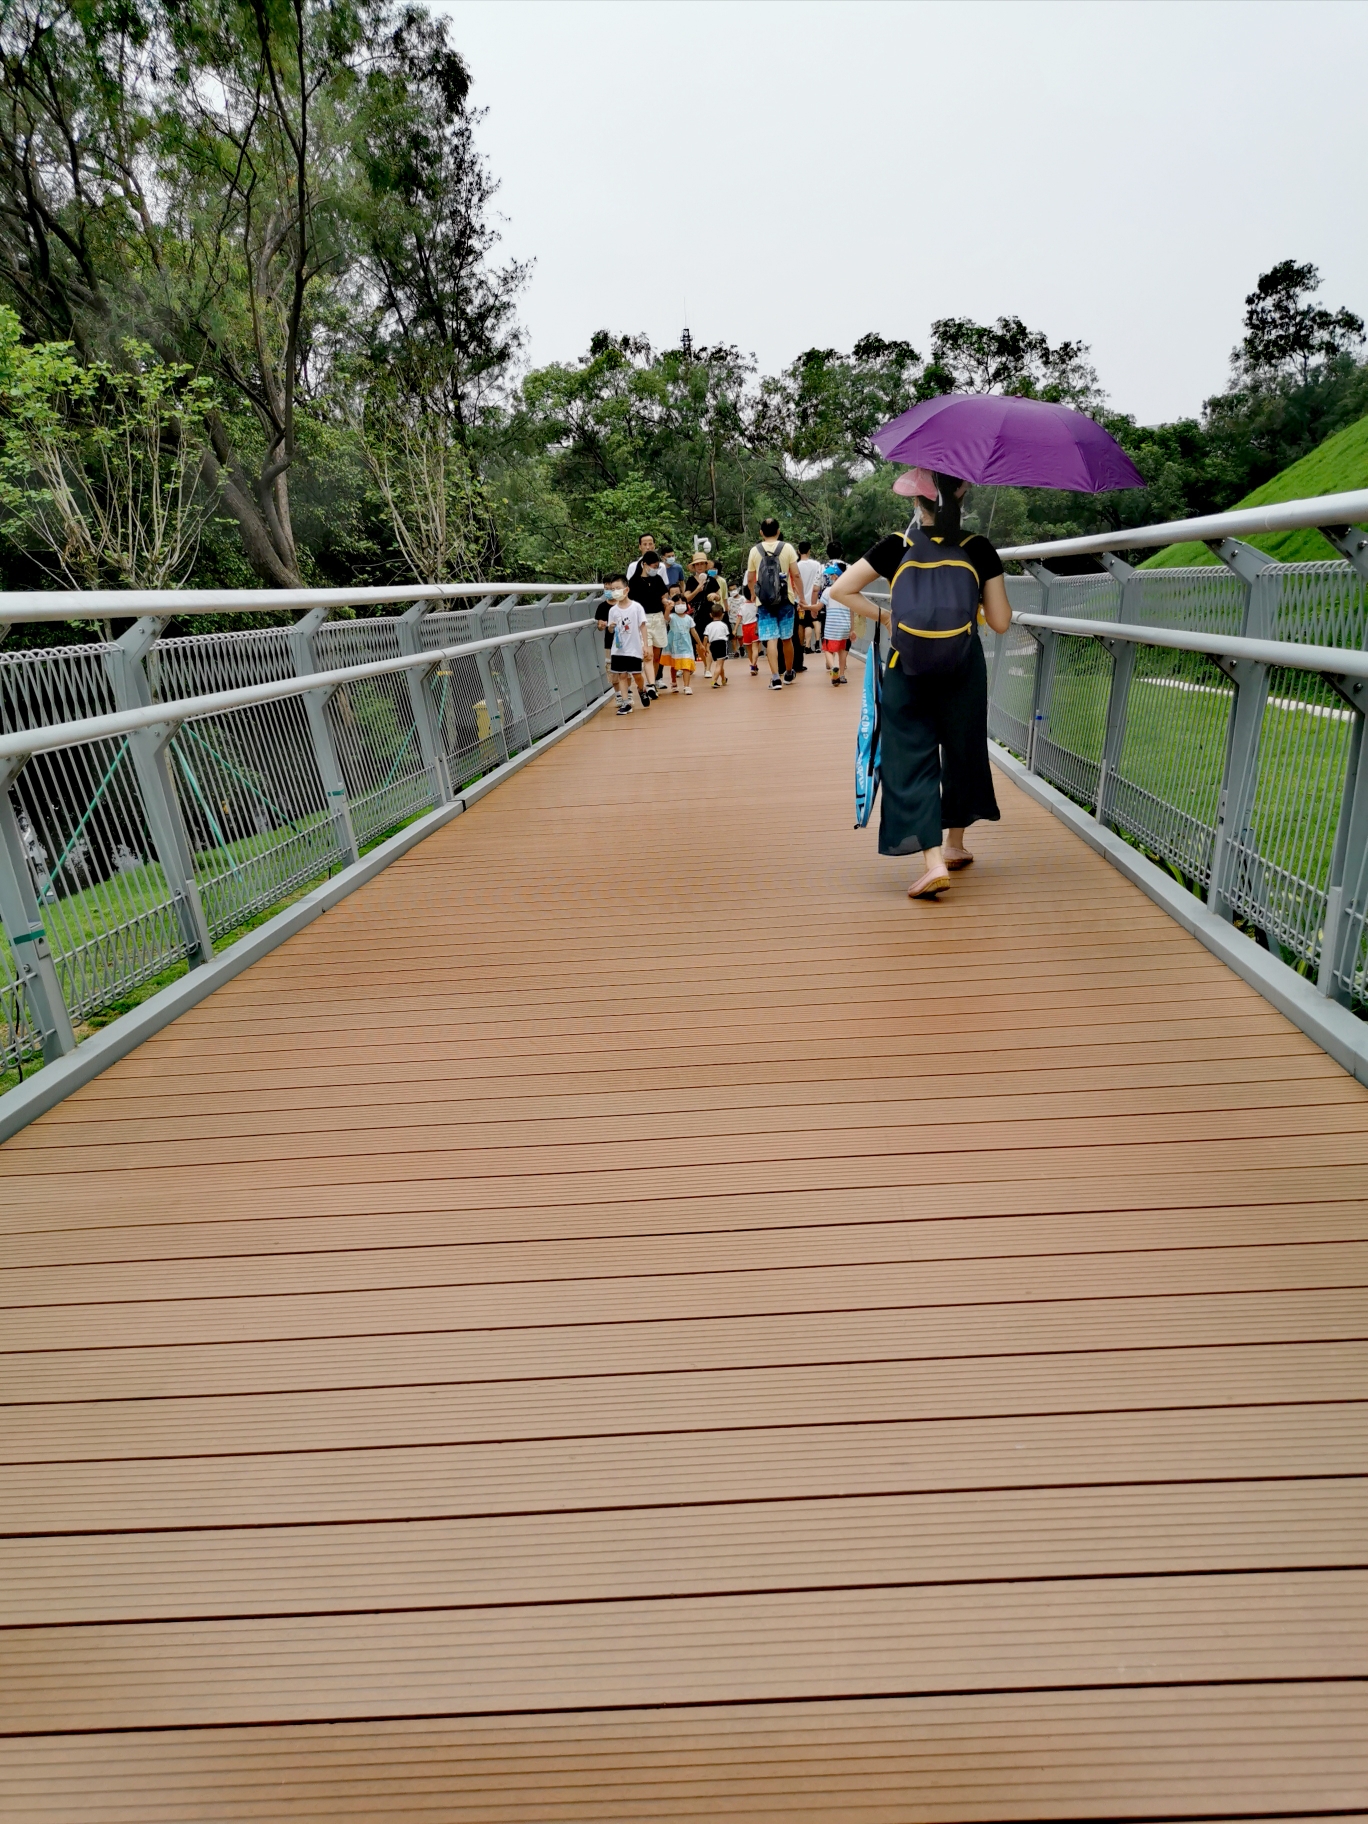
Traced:
<svg viewBox="0 0 1368 1824">
<path fill-rule="evenodd" d="M 642 529 L 735 571 L 766 514 L 861 551 L 905 516 L 874 432 L 952 390 L 1091 412 L 1147 478 L 978 491 L 1009 544 L 1217 511 L 1368 412 L 1363 319 L 1293 259 L 1169 425 L 1014 314 L 777 374 L 618 325 L 529 368 L 476 77 L 409 0 L 9 0 L 0 75 L 11 586 L 565 580 Z"/>
</svg>

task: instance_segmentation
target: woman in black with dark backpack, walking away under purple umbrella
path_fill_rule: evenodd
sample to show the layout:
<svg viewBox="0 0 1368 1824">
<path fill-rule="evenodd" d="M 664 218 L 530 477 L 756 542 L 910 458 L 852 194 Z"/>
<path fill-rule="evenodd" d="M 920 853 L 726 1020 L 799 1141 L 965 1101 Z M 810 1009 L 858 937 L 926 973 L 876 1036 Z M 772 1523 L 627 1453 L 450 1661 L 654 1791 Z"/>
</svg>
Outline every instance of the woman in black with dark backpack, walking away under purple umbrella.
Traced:
<svg viewBox="0 0 1368 1824">
<path fill-rule="evenodd" d="M 979 609 L 994 633 L 1007 633 L 1001 558 L 978 533 L 959 525 L 967 482 L 912 469 L 896 492 L 912 494 L 917 520 L 881 538 L 830 587 L 832 602 L 879 620 L 890 635 L 883 668 L 879 854 L 921 852 L 923 872 L 910 899 L 934 899 L 950 874 L 974 859 L 965 828 L 998 823 L 989 766 L 989 673 L 978 637 Z M 881 609 L 863 591 L 885 576 L 892 604 Z M 870 653 L 868 664 L 874 664 Z"/>
</svg>

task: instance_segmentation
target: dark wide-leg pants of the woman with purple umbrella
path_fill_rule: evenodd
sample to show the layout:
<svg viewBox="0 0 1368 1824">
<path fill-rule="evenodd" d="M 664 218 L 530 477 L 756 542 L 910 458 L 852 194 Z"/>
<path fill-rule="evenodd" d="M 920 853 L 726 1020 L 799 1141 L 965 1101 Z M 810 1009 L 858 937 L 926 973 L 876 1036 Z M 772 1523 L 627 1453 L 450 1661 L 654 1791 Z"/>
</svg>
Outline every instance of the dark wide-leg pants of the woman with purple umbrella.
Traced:
<svg viewBox="0 0 1368 1824">
<path fill-rule="evenodd" d="M 945 830 L 998 823 L 989 766 L 989 668 L 974 635 L 958 671 L 883 669 L 879 854 L 936 848 Z"/>
</svg>

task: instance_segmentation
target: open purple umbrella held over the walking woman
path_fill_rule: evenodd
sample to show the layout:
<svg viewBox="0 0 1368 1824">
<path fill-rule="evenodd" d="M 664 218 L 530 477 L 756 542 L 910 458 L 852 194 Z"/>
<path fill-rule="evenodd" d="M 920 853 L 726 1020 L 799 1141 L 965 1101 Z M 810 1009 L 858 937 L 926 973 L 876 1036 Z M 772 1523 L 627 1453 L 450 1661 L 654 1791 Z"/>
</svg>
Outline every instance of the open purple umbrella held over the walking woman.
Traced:
<svg viewBox="0 0 1368 1824">
<path fill-rule="evenodd" d="M 874 449 L 885 461 L 938 469 L 963 482 L 1065 487 L 1074 494 L 1145 485 L 1111 432 L 1047 399 L 947 392 L 876 430 Z"/>
</svg>

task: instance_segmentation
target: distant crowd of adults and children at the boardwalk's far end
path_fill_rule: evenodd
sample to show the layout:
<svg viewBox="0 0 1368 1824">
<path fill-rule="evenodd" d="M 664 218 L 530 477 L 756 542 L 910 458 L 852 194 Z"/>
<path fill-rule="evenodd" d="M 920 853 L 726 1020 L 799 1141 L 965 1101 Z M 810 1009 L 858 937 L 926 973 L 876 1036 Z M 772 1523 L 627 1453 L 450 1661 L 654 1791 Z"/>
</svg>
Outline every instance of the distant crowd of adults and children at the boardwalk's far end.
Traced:
<svg viewBox="0 0 1368 1824">
<path fill-rule="evenodd" d="M 837 544 L 823 564 L 810 540 L 793 549 L 777 520 L 762 520 L 746 580 L 728 591 L 708 551 L 695 551 L 686 569 L 671 545 L 657 551 L 655 536 L 642 533 L 626 573 L 607 578 L 598 615 L 618 715 L 631 713 L 633 684 L 644 710 L 662 693 L 691 697 L 700 669 L 722 689 L 733 651 L 744 653 L 751 677 L 764 653 L 770 688 L 782 689 L 806 669 L 804 653 L 821 648 L 832 684 L 846 684 L 850 611 L 830 595 L 845 569 Z"/>
</svg>

